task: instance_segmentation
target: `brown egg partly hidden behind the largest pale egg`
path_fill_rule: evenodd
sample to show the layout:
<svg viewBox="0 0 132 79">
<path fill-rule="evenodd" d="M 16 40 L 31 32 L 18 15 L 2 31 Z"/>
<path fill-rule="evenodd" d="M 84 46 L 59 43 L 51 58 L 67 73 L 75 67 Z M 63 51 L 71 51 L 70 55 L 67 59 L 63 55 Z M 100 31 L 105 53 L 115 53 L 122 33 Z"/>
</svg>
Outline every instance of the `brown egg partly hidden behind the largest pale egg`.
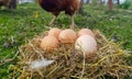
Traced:
<svg viewBox="0 0 132 79">
<path fill-rule="evenodd" d="M 89 30 L 89 29 L 79 30 L 78 33 L 77 33 L 77 36 L 79 37 L 81 35 L 90 35 L 90 36 L 95 37 L 94 32 L 91 30 Z"/>
</svg>

